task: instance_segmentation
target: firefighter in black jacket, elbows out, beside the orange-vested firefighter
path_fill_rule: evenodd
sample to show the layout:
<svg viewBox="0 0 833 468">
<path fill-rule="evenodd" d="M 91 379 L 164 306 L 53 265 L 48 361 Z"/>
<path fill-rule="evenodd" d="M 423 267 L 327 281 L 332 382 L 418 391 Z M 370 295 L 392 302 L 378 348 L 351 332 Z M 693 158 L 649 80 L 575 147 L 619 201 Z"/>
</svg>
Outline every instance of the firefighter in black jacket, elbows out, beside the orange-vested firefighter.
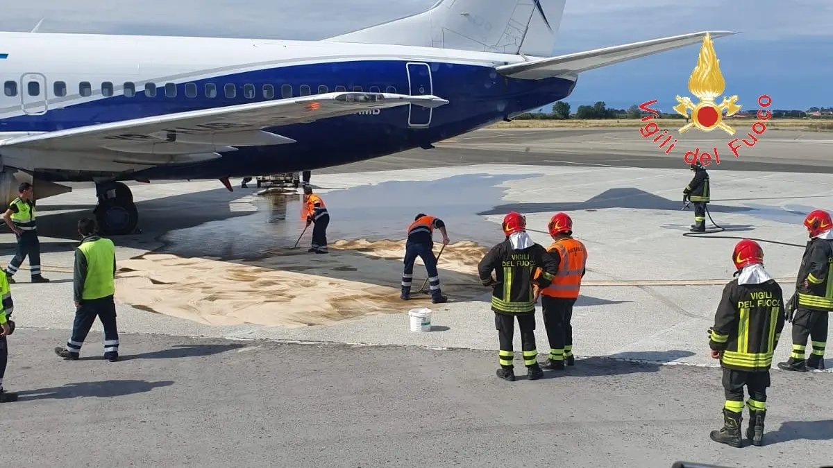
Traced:
<svg viewBox="0 0 833 468">
<path fill-rule="evenodd" d="M 517 317 L 526 378 L 534 381 L 543 376 L 543 371 L 538 365 L 535 345 L 535 299 L 532 285 L 550 286 L 558 264 L 543 246 L 532 241 L 526 233 L 526 218 L 519 213 L 507 214 L 503 218 L 502 227 L 506 240 L 491 247 L 477 265 L 483 286 L 493 286 L 491 310 L 495 312 L 495 328 L 500 340 L 498 362 L 501 367 L 497 370 L 497 376 L 506 381 L 515 381 L 512 336 Z M 491 277 L 492 271 L 496 279 Z"/>
</svg>

